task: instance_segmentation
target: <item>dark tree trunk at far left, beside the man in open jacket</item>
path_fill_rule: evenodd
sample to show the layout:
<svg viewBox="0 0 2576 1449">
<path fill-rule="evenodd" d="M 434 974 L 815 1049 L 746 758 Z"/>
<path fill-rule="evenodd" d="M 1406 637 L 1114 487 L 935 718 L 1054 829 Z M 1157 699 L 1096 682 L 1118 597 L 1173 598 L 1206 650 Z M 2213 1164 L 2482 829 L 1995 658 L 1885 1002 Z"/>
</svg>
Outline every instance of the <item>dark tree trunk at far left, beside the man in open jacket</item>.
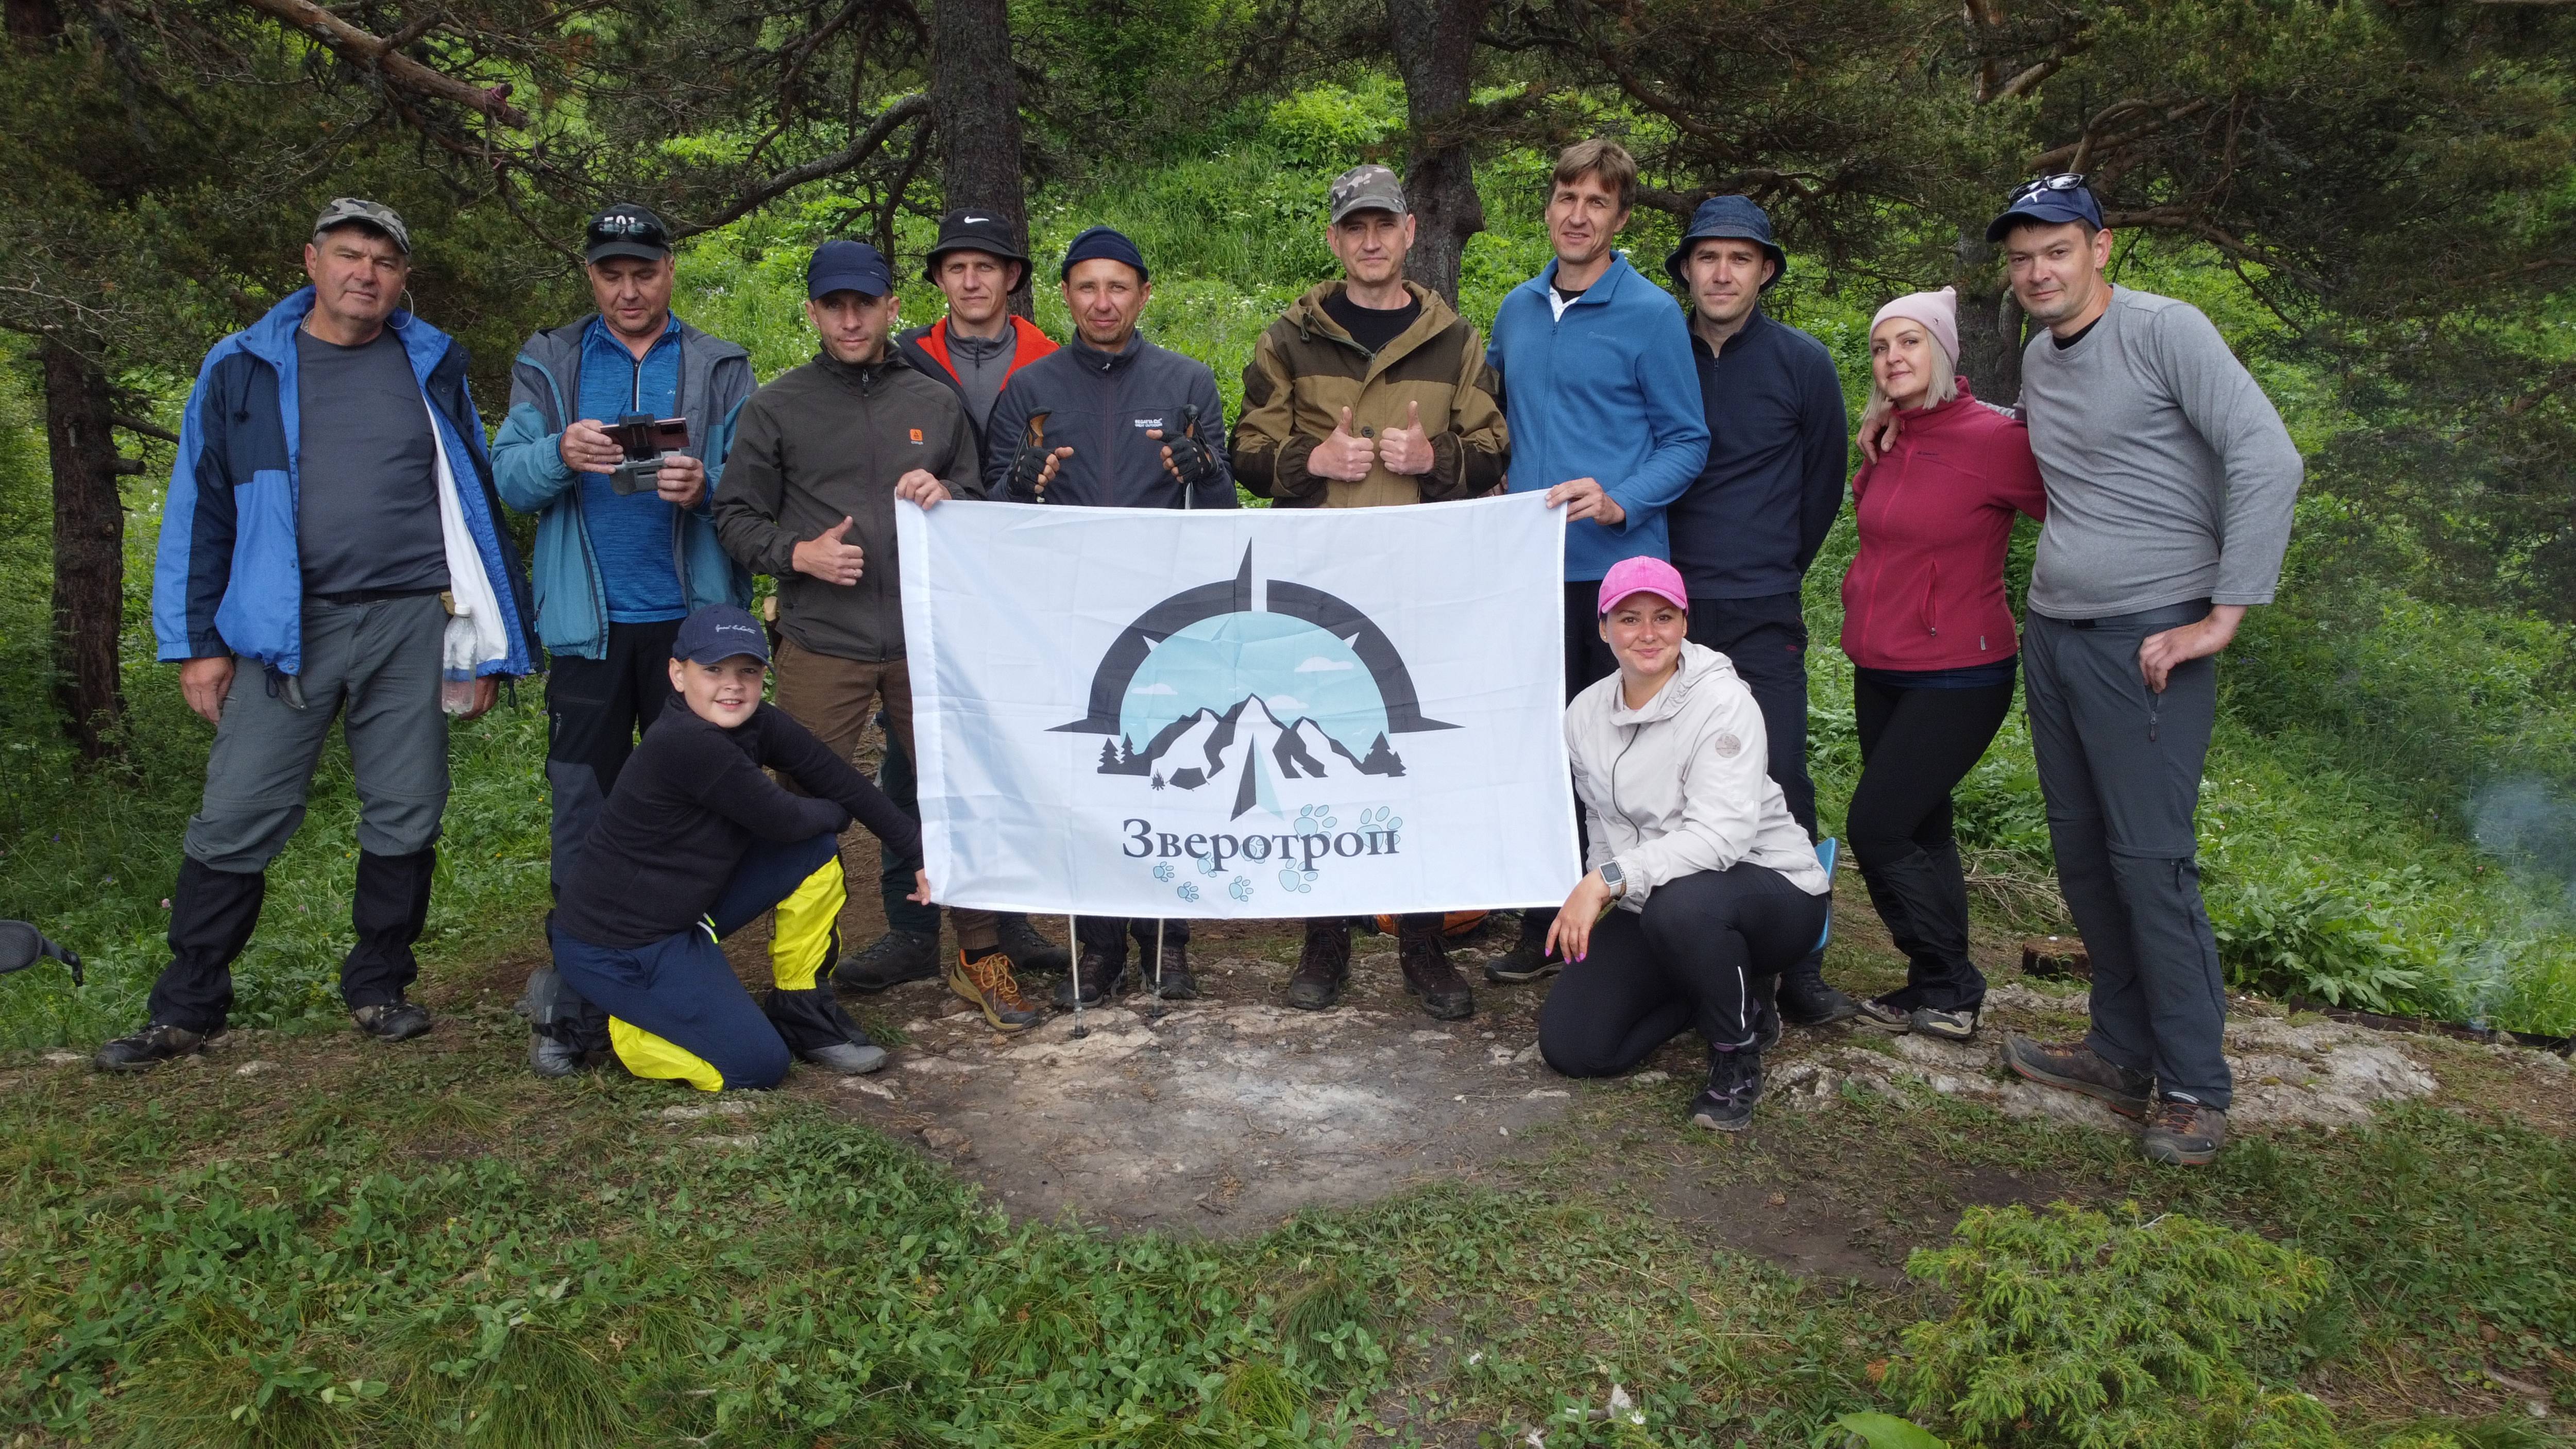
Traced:
<svg viewBox="0 0 2576 1449">
<path fill-rule="evenodd" d="M 46 340 L 44 441 L 54 462 L 54 704 L 82 758 L 113 753 L 126 717 L 116 645 L 126 624 L 124 459 L 108 431 L 108 376 Z"/>
</svg>

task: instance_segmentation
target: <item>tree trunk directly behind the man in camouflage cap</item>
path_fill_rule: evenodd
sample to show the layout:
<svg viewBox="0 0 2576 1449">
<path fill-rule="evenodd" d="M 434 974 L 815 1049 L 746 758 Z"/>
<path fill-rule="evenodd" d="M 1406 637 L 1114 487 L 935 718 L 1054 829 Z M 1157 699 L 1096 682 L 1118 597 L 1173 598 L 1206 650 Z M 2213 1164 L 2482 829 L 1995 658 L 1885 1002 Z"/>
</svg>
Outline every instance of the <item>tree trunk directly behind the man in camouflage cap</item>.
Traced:
<svg viewBox="0 0 2576 1449">
<path fill-rule="evenodd" d="M 1404 72 L 1404 124 L 1412 152 L 1404 204 L 1414 209 L 1414 250 L 1404 273 L 1458 304 L 1458 258 L 1484 229 L 1476 162 L 1458 129 L 1473 80 L 1476 31 L 1486 0 L 1386 0 L 1386 28 Z"/>
</svg>

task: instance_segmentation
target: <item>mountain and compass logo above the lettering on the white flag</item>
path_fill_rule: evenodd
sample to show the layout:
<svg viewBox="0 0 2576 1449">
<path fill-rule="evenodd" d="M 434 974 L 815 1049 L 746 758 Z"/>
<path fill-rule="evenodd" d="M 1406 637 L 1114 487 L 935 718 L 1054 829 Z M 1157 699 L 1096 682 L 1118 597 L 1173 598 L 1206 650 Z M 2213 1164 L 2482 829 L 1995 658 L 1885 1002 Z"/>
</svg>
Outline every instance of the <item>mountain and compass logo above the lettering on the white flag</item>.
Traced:
<svg viewBox="0 0 2576 1449">
<path fill-rule="evenodd" d="M 1231 580 L 1149 608 L 1100 660 L 1090 714 L 1056 730 L 1103 735 L 1100 773 L 1231 789 L 1236 817 L 1285 812 L 1301 781 L 1396 779 L 1394 735 L 1455 730 L 1422 717 L 1373 619 L 1285 580 L 1260 593 L 1247 549 Z"/>
</svg>

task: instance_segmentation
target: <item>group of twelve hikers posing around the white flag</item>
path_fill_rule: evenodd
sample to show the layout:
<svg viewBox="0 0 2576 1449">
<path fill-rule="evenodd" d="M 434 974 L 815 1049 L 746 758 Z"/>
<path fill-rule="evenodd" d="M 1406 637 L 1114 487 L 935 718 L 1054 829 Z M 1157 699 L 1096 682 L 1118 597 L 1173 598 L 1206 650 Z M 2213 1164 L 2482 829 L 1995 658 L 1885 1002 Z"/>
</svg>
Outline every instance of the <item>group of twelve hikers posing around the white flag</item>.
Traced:
<svg viewBox="0 0 2576 1449">
<path fill-rule="evenodd" d="M 2081 175 L 2017 188 L 1989 227 L 2038 325 L 2022 405 L 1958 374 L 1950 289 L 1870 325 L 1860 472 L 1826 348 L 1762 297 L 1788 266 L 1752 199 L 1698 206 L 1664 276 L 1615 237 L 1633 157 L 1566 147 L 1556 258 L 1492 338 L 1406 281 L 1414 214 L 1381 165 L 1334 178 L 1342 276 L 1255 345 L 1242 415 L 1206 364 L 1139 333 L 1151 273 L 1108 227 L 1072 240 L 1066 343 L 1010 309 L 1030 260 L 971 206 L 940 222 L 945 315 L 899 330 L 878 248 L 829 240 L 806 268 L 814 361 L 765 384 L 744 348 L 670 312 L 672 235 L 644 206 L 587 227 L 598 312 L 523 345 L 484 446 L 464 351 L 397 307 L 410 232 L 343 199 L 314 224 L 312 286 L 224 338 L 188 400 L 155 578 L 160 657 L 216 724 L 170 892 L 149 1021 L 98 1065 L 142 1070 L 224 1031 L 229 967 L 263 871 L 304 817 L 332 717 L 358 815 L 361 1031 L 410 1039 L 407 998 L 448 794 L 448 719 L 546 668 L 551 964 L 520 1003 L 531 1065 L 605 1060 L 698 1088 L 775 1085 L 804 1060 L 868 1073 L 886 1052 L 840 993 L 945 977 L 997 1031 L 1126 987 L 1195 995 L 1188 923 L 951 910 L 920 871 L 912 678 L 894 505 L 1394 508 L 1546 492 L 1566 531 L 1566 714 L 1584 874 L 1484 962 L 1492 985 L 1558 980 L 1538 1047 L 1566 1075 L 1625 1073 L 1698 1029 L 1692 1119 L 1739 1129 L 1783 1021 L 1976 1034 L 1953 792 L 2012 704 L 2027 717 L 2058 882 L 2092 954 L 2092 1031 L 2004 1042 L 2038 1083 L 2146 1119 L 2141 1145 L 2208 1163 L 2231 1078 L 2192 810 L 2215 663 L 2280 572 L 2300 456 L 2190 304 L 2112 286 Z M 685 438 L 667 420 L 685 420 Z M 636 451 L 636 431 L 659 441 Z M 659 451 L 657 451 L 659 449 Z M 1855 1000 L 1821 975 L 1832 864 L 1806 768 L 1801 585 L 1850 487 L 1842 580 L 1862 773 L 1844 838 L 1906 954 L 1906 985 Z M 536 516 L 533 580 L 502 508 Z M 2004 596 L 2014 516 L 2043 521 L 2030 608 Z M 755 616 L 752 575 L 775 580 Z M 2027 634 L 2027 637 L 2022 637 Z M 2027 650 L 2025 650 L 2027 645 Z M 768 691 L 768 699 L 765 699 Z M 855 766 L 884 727 L 876 779 Z M 775 771 L 775 773 L 770 773 Z M 886 933 L 842 957 L 840 833 L 881 843 Z M 1473 908 L 1476 882 L 1458 882 Z M 719 941 L 775 913 L 773 990 L 752 1000 Z M 1285 998 L 1329 1008 L 1347 918 L 1306 920 Z M 1409 993 L 1476 1008 L 1437 913 L 1396 923 Z M 1159 957 L 1157 957 L 1159 951 Z"/>
</svg>

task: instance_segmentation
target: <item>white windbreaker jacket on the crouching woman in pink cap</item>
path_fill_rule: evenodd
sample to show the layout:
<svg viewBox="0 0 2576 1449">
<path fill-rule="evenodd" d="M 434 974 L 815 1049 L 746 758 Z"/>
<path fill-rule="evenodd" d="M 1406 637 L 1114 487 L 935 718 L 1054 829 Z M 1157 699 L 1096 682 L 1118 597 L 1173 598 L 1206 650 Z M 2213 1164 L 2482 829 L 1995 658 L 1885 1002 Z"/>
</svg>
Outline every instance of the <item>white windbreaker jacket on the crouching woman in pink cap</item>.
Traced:
<svg viewBox="0 0 2576 1449">
<path fill-rule="evenodd" d="M 1685 642 L 1680 673 L 1643 709 L 1620 699 L 1620 676 L 1577 694 L 1566 753 L 1592 841 L 1584 869 L 1618 861 L 1628 877 L 1620 910 L 1643 910 L 1669 879 L 1736 861 L 1808 895 L 1832 890 L 1770 779 L 1762 709 L 1726 655 Z"/>
</svg>

